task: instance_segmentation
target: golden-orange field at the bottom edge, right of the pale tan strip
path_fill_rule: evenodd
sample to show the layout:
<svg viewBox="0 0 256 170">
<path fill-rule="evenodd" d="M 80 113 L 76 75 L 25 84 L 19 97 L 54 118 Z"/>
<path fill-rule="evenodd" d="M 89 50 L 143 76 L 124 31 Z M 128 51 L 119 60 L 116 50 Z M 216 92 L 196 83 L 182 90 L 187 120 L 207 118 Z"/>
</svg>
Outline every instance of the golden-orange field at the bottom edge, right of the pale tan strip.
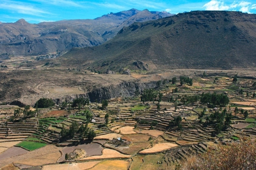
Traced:
<svg viewBox="0 0 256 170">
<path fill-rule="evenodd" d="M 129 162 L 125 160 L 106 160 L 102 161 L 90 170 L 126 170 Z"/>
</svg>

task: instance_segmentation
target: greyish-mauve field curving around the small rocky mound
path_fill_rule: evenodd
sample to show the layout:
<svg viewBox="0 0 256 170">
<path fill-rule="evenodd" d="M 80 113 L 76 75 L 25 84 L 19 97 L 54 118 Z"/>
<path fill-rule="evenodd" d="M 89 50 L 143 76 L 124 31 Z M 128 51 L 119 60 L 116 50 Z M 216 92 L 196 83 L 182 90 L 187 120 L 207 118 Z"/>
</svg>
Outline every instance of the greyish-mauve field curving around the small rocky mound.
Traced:
<svg viewBox="0 0 256 170">
<path fill-rule="evenodd" d="M 93 155 L 101 155 L 103 148 L 98 143 L 89 143 L 87 145 L 77 145 L 77 146 L 67 146 L 67 147 L 63 148 L 63 150 L 61 150 L 62 156 L 60 157 L 58 162 L 65 161 L 65 154 L 71 153 L 75 149 L 83 149 L 86 152 L 85 157 L 90 157 Z"/>
</svg>

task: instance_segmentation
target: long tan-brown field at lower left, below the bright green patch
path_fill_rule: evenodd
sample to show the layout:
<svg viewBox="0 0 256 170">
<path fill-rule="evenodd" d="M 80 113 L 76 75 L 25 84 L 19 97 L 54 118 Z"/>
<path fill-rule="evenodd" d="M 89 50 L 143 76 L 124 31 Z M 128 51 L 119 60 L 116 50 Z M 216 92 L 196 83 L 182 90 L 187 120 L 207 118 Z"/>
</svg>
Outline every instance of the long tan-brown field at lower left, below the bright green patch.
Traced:
<svg viewBox="0 0 256 170">
<path fill-rule="evenodd" d="M 12 148 L 18 148 L 18 147 L 12 147 Z M 10 149 L 12 149 L 12 148 L 10 148 Z M 11 154 L 7 155 L 7 157 L 4 154 L 5 153 L 4 152 L 4 153 L 1 153 L 1 155 L 4 154 L 4 159 L 0 160 L 0 167 L 11 164 L 12 162 L 19 162 L 21 160 L 29 160 L 29 159 L 33 160 L 34 158 L 39 158 L 39 157 L 42 157 L 44 155 L 50 156 L 49 155 L 50 153 L 56 153 L 56 152 L 60 153 L 60 149 L 61 149 L 60 147 L 56 147 L 54 145 L 47 145 L 43 148 L 39 148 L 39 149 L 33 150 L 31 152 L 28 152 L 27 150 L 24 150 L 22 148 L 18 148 L 18 149 L 12 150 Z M 8 150 L 6 150 L 6 152 L 7 151 Z M 19 151 L 19 152 L 17 152 L 17 151 Z M 49 157 L 49 158 L 51 158 L 51 157 Z M 48 160 L 51 161 L 51 162 L 53 161 L 51 159 L 48 159 Z M 54 160 L 54 161 L 56 162 L 56 160 Z"/>
</svg>

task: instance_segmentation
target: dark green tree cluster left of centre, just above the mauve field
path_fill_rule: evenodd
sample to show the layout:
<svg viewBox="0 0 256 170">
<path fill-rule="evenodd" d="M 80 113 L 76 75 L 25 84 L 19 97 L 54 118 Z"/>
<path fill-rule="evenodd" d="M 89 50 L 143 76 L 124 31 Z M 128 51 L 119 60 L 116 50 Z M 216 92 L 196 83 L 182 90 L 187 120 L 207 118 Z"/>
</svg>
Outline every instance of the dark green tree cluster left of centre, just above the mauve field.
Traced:
<svg viewBox="0 0 256 170">
<path fill-rule="evenodd" d="M 65 141 L 66 139 L 74 138 L 75 134 L 79 134 L 79 138 L 82 140 L 84 138 L 86 139 L 93 139 L 96 136 L 96 133 L 93 131 L 93 129 L 90 129 L 88 127 L 88 122 L 84 125 L 79 125 L 76 121 L 73 121 L 69 129 L 62 126 L 60 135 L 61 135 L 61 141 Z"/>
</svg>

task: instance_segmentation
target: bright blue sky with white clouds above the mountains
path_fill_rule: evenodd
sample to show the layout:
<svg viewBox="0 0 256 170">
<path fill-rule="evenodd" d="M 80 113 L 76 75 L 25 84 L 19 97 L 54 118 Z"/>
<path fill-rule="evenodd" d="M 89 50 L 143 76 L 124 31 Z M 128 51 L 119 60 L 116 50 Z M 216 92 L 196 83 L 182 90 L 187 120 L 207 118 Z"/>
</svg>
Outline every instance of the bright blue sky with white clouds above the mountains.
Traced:
<svg viewBox="0 0 256 170">
<path fill-rule="evenodd" d="M 147 0 L 1 0 L 0 22 L 16 22 L 24 18 L 29 23 L 44 21 L 93 19 L 110 12 L 148 9 L 182 13 L 195 10 L 228 10 L 256 13 L 256 1 L 147 1 Z"/>
</svg>

